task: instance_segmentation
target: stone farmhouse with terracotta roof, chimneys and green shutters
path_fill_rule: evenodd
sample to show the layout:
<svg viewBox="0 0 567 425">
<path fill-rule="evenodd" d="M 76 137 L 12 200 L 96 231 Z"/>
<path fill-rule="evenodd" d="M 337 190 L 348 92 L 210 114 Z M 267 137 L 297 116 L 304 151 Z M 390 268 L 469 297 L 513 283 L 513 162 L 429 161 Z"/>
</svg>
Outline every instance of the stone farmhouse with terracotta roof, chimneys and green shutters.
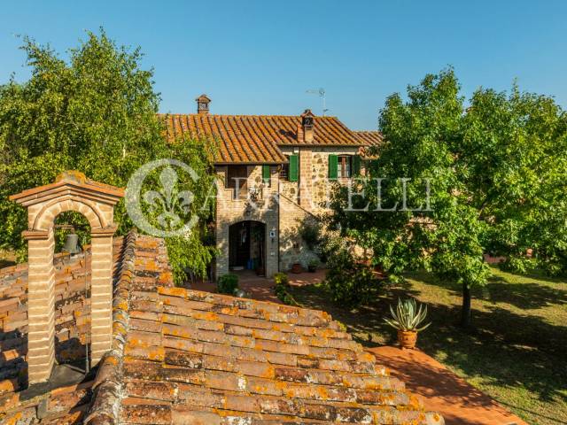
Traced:
<svg viewBox="0 0 567 425">
<path fill-rule="evenodd" d="M 261 266 L 265 274 L 307 266 L 314 254 L 298 228 L 321 213 L 332 182 L 361 174 L 364 153 L 381 143 L 377 131 L 353 131 L 336 117 L 214 115 L 211 100 L 197 113 L 168 114 L 171 139 L 189 134 L 217 141 L 219 189 L 215 274 Z"/>
</svg>

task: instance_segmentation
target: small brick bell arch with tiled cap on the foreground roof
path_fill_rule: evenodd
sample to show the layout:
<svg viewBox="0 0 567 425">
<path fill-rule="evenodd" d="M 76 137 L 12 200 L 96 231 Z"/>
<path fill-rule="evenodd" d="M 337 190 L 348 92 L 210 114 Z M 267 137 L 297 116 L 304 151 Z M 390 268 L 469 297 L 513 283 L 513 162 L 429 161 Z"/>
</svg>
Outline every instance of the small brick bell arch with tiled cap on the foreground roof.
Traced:
<svg viewBox="0 0 567 425">
<path fill-rule="evenodd" d="M 12 195 L 27 207 L 23 232 L 28 247 L 27 370 L 28 383 L 50 378 L 55 361 L 55 239 L 53 226 L 60 213 L 75 211 L 89 220 L 91 236 L 91 365 L 110 350 L 113 321 L 114 205 L 122 189 L 93 182 L 84 174 L 67 171 L 56 182 Z"/>
</svg>

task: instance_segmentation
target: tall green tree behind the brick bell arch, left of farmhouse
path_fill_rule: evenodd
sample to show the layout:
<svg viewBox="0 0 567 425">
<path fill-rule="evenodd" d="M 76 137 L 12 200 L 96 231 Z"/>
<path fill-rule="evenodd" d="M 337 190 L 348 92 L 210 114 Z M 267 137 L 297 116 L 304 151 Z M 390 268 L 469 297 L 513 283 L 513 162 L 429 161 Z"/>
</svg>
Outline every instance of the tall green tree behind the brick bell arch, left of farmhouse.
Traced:
<svg viewBox="0 0 567 425">
<path fill-rule="evenodd" d="M 20 233 L 27 227 L 26 212 L 8 196 L 53 182 L 68 169 L 125 187 L 144 163 L 180 159 L 198 172 L 200 182 L 190 189 L 195 205 L 202 203 L 201 188 L 214 181 L 205 141 L 167 143 L 156 115 L 159 95 L 153 89 L 152 71 L 141 67 L 139 49 L 117 46 L 101 29 L 100 35 L 89 33 L 86 41 L 69 50 L 67 60 L 28 38 L 22 50 L 31 78 L 18 83 L 12 77 L 0 86 L 0 247 L 25 257 Z M 191 213 L 203 222 L 212 209 L 192 208 Z M 68 214 L 66 220 L 80 219 Z M 117 205 L 115 220 L 118 235 L 133 226 L 123 202 Z M 201 243 L 198 229 L 167 240 L 176 282 L 183 281 L 186 267 L 204 274 L 214 253 Z"/>
</svg>

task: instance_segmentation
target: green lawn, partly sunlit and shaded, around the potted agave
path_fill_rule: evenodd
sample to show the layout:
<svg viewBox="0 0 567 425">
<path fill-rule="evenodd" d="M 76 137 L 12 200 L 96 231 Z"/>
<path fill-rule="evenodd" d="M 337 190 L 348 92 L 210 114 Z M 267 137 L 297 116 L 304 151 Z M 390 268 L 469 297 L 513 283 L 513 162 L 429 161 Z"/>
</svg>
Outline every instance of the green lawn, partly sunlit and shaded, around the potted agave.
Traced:
<svg viewBox="0 0 567 425">
<path fill-rule="evenodd" d="M 400 286 L 380 290 L 369 305 L 347 310 L 321 285 L 292 287 L 310 308 L 328 311 L 362 344 L 395 344 L 383 321 L 388 305 L 415 297 L 429 306 L 430 328 L 420 334 L 423 352 L 501 405 L 535 424 L 567 424 L 567 282 L 493 268 L 488 285 L 473 293 L 470 331 L 458 327 L 461 289 L 430 274 L 408 274 Z"/>
</svg>

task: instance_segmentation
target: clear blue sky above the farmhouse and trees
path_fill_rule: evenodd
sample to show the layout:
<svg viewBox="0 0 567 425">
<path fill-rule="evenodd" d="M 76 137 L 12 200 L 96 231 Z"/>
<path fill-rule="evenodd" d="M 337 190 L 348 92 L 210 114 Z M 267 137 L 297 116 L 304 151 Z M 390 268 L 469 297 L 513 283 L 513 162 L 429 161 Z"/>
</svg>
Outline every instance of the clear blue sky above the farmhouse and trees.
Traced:
<svg viewBox="0 0 567 425">
<path fill-rule="evenodd" d="M 141 46 L 155 70 L 161 112 L 298 114 L 321 102 L 347 126 L 377 128 L 392 92 L 452 65 L 463 93 L 521 89 L 567 106 L 567 1 L 6 2 L 0 12 L 0 82 L 23 67 L 16 35 L 64 53 L 105 27 Z"/>
</svg>

